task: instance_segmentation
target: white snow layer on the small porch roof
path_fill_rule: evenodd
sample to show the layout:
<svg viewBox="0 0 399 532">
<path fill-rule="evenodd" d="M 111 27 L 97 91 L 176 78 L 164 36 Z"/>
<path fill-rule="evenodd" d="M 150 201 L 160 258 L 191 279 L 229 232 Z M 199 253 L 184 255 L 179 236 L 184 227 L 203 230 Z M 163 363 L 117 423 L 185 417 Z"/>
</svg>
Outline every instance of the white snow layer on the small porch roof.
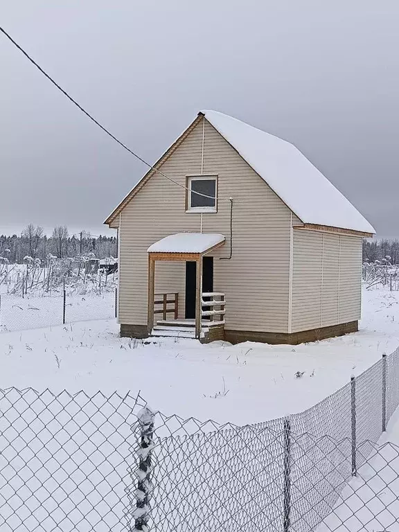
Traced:
<svg viewBox="0 0 399 532">
<path fill-rule="evenodd" d="M 169 235 L 149 248 L 149 253 L 204 253 L 226 240 L 218 233 L 177 233 Z"/>
</svg>

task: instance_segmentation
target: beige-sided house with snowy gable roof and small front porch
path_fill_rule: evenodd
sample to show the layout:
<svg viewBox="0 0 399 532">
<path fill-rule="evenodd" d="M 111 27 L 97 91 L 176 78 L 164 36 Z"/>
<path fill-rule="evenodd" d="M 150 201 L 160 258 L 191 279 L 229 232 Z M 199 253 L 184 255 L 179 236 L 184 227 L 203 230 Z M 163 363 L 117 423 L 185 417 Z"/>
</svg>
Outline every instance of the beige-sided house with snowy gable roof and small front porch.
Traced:
<svg viewBox="0 0 399 532">
<path fill-rule="evenodd" d="M 121 335 L 297 344 L 357 330 L 375 233 L 294 145 L 200 112 L 105 221 Z"/>
</svg>

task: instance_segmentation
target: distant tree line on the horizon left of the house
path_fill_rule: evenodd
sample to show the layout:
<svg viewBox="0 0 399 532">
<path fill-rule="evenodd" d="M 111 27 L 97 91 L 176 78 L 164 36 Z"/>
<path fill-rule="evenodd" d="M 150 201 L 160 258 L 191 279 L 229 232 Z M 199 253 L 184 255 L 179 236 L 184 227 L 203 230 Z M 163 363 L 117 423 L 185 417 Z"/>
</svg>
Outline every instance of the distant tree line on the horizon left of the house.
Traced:
<svg viewBox="0 0 399 532">
<path fill-rule="evenodd" d="M 0 257 L 10 263 L 23 263 L 26 256 L 44 260 L 51 254 L 57 258 L 86 256 L 116 258 L 118 249 L 114 236 L 91 236 L 88 231 L 69 235 L 66 226 L 57 226 L 51 237 L 42 227 L 28 224 L 20 235 L 0 236 Z"/>
</svg>

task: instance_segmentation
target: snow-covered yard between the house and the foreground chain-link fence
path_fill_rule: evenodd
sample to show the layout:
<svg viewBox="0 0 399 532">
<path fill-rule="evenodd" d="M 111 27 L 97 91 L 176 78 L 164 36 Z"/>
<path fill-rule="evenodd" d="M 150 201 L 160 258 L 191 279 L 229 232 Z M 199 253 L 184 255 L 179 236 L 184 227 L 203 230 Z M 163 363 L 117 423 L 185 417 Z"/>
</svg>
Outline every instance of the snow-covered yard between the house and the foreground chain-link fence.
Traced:
<svg viewBox="0 0 399 532">
<path fill-rule="evenodd" d="M 364 290 L 359 332 L 300 346 L 143 345 L 119 338 L 114 320 L 3 332 L 0 387 L 140 390 L 165 414 L 241 425 L 314 405 L 398 344 L 399 294 Z"/>
</svg>

